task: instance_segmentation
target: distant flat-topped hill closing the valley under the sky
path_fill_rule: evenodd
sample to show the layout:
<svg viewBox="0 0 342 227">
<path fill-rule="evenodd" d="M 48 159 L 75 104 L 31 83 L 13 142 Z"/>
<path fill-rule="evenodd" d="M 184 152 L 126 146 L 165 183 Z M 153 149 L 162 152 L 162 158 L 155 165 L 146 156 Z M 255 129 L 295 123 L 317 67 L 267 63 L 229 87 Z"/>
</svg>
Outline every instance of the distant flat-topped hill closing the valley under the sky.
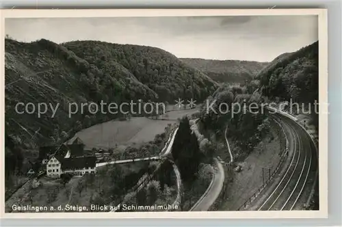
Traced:
<svg viewBox="0 0 342 227">
<path fill-rule="evenodd" d="M 251 81 L 268 62 L 249 62 L 238 60 L 211 60 L 199 58 L 181 58 L 183 62 L 205 72 L 218 83 L 242 83 Z"/>
</svg>

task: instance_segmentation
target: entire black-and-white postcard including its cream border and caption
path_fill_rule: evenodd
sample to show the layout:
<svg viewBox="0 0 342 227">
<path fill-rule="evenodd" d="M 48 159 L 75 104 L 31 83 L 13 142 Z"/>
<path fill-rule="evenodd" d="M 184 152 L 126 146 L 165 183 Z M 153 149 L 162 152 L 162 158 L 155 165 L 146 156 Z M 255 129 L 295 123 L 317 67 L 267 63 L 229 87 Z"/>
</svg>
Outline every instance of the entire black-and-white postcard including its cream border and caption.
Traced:
<svg viewBox="0 0 342 227">
<path fill-rule="evenodd" d="M 5 17 L 3 213 L 324 211 L 325 11 L 269 11 Z"/>
</svg>

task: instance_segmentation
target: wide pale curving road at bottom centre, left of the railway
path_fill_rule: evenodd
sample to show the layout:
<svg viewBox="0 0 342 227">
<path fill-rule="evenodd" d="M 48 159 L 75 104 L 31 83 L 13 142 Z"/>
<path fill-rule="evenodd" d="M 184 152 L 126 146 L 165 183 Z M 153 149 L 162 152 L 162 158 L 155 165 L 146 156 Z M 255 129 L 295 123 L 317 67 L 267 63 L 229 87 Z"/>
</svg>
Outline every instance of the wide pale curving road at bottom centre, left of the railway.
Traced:
<svg viewBox="0 0 342 227">
<path fill-rule="evenodd" d="M 220 195 L 223 182 L 224 182 L 224 168 L 222 163 L 218 159 L 215 161 L 215 172 L 213 174 L 213 180 L 209 185 L 207 191 L 202 195 L 202 197 L 192 206 L 190 211 L 207 211 L 210 206 L 215 202 L 215 200 Z"/>
</svg>

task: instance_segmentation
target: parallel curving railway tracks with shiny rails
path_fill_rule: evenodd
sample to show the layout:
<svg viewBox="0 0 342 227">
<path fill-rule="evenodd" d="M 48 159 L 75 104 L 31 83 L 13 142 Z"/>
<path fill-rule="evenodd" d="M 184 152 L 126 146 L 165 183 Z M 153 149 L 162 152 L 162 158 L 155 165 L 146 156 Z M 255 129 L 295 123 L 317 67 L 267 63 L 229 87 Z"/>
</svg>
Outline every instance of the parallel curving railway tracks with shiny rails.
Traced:
<svg viewBox="0 0 342 227">
<path fill-rule="evenodd" d="M 290 149 L 293 149 L 286 172 L 281 176 L 278 185 L 265 198 L 258 211 L 291 211 L 298 209 L 298 202 L 306 186 L 310 186 L 308 178 L 313 176 L 313 145 L 306 131 L 297 123 L 281 117 L 282 125 L 287 128 L 289 137 L 293 138 Z M 313 176 L 315 177 L 315 176 Z"/>
</svg>

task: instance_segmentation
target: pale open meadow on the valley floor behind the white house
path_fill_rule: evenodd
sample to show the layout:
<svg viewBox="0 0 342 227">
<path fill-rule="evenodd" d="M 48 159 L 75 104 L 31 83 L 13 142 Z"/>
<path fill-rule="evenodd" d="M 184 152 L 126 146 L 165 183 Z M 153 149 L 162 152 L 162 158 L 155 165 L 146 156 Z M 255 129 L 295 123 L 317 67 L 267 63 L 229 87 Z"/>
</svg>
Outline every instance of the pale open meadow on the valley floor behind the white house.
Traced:
<svg viewBox="0 0 342 227">
<path fill-rule="evenodd" d="M 155 135 L 163 133 L 165 127 L 174 124 L 177 118 L 194 114 L 196 111 L 196 109 L 170 111 L 166 114 L 169 120 L 152 120 L 145 117 L 127 121 L 111 120 L 79 131 L 70 141 L 79 137 L 86 144 L 86 149 L 142 144 L 152 141 Z"/>
</svg>

